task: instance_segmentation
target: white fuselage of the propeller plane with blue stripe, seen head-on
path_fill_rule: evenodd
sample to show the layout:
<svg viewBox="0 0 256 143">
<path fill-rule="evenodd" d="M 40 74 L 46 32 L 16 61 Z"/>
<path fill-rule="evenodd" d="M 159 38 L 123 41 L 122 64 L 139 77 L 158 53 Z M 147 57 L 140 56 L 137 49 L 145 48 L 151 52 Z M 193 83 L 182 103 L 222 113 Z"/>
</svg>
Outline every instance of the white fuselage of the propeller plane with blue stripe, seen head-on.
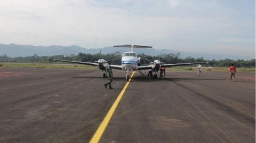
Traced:
<svg viewBox="0 0 256 143">
<path fill-rule="evenodd" d="M 138 70 L 138 58 L 134 52 L 123 53 L 122 70 Z"/>
</svg>

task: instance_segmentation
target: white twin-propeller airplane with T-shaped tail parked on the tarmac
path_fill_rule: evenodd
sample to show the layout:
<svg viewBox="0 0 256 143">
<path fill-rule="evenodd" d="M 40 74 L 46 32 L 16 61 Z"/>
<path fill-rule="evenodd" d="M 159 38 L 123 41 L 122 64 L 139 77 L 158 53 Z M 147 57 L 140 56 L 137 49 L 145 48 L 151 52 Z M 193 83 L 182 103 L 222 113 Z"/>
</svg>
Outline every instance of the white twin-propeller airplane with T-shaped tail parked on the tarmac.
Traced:
<svg viewBox="0 0 256 143">
<path fill-rule="evenodd" d="M 157 78 L 156 72 L 160 70 L 161 67 L 172 67 L 172 66 L 184 66 L 184 65 L 191 65 L 191 64 L 208 64 L 209 62 L 200 62 L 200 63 L 179 63 L 179 64 L 161 64 L 159 60 L 155 60 L 154 64 L 150 64 L 147 66 L 138 66 L 138 57 L 135 52 L 133 52 L 133 48 L 152 48 L 152 46 L 140 46 L 140 45 L 117 45 L 113 47 L 123 47 L 123 48 L 131 48 L 131 52 L 124 52 L 122 54 L 121 65 L 113 65 L 111 64 L 111 68 L 118 69 L 118 70 L 125 70 L 126 74 L 126 81 L 129 81 L 129 71 L 140 71 L 140 70 L 149 70 L 151 69 L 154 71 L 153 78 Z M 98 66 L 98 68 L 102 71 L 105 71 L 107 63 L 104 59 L 98 60 L 98 63 L 91 63 L 91 62 L 79 62 L 79 61 L 67 61 L 67 60 L 59 60 L 54 59 L 54 61 L 62 61 L 68 63 L 77 63 L 77 64 L 86 64 L 91 66 Z M 103 73 L 103 77 L 105 77 L 105 72 Z"/>
</svg>

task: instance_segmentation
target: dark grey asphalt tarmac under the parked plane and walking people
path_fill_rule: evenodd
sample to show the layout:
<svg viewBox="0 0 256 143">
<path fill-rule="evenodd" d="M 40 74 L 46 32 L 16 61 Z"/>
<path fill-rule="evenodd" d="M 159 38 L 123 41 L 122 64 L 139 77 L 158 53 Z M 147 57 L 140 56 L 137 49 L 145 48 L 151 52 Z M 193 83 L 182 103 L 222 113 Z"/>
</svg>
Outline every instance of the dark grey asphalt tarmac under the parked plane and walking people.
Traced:
<svg viewBox="0 0 256 143">
<path fill-rule="evenodd" d="M 144 72 L 146 73 L 146 71 Z M 87 143 L 126 84 L 114 70 L 0 68 L 0 143 Z M 100 143 L 255 143 L 255 72 L 135 73 Z"/>
</svg>

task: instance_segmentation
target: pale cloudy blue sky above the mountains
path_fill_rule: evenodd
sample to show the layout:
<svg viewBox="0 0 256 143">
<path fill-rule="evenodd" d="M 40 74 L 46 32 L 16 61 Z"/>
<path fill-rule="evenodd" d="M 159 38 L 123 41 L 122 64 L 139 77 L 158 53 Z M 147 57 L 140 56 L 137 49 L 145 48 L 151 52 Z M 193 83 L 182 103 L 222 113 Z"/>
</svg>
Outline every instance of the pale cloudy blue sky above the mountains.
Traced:
<svg viewBox="0 0 256 143">
<path fill-rule="evenodd" d="M 255 58 L 255 0 L 0 0 L 0 43 Z"/>
</svg>

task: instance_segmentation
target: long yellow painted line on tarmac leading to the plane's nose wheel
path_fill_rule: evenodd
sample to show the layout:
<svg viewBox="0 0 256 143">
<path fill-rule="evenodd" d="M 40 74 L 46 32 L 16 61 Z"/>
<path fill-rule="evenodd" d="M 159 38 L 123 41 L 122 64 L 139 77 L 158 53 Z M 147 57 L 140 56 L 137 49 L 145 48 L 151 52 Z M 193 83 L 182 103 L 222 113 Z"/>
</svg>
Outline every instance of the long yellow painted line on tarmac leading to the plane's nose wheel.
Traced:
<svg viewBox="0 0 256 143">
<path fill-rule="evenodd" d="M 104 120 L 102 121 L 102 123 L 100 124 L 100 127 L 96 130 L 95 134 L 93 135 L 93 138 L 91 139 L 90 143 L 98 143 L 98 141 L 100 140 L 104 130 L 107 127 L 107 124 L 109 123 L 109 120 L 111 119 L 112 115 L 114 114 L 114 111 L 116 110 L 116 107 L 118 105 L 118 103 L 120 102 L 121 98 L 123 97 L 123 93 L 125 92 L 126 88 L 128 87 L 133 75 L 134 75 L 134 71 L 133 74 L 131 75 L 131 78 L 129 79 L 129 81 L 125 84 L 125 86 L 123 87 L 122 91 L 120 92 L 120 94 L 118 95 L 118 97 L 116 98 L 116 101 L 114 102 L 114 104 L 112 105 L 112 107 L 110 108 L 109 112 L 107 113 L 107 115 L 105 116 Z"/>
</svg>

